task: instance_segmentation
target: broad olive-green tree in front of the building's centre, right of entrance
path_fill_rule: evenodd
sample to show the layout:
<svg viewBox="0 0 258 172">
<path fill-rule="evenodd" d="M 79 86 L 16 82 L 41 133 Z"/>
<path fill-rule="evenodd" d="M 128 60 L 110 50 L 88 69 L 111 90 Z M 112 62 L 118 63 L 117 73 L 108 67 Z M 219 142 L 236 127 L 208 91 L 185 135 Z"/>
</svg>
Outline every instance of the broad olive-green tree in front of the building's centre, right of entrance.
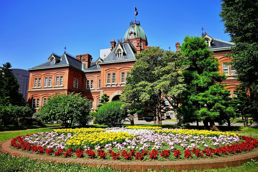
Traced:
<svg viewBox="0 0 258 172">
<path fill-rule="evenodd" d="M 167 99 L 176 108 L 180 94 L 184 90 L 183 77 L 180 73 L 187 65 L 181 65 L 186 58 L 180 52 L 164 51 L 159 47 L 150 47 L 136 54 L 137 59 L 131 69 L 120 100 L 122 108 L 139 111 L 144 107 L 152 110 L 154 124 L 162 123 L 162 115 Z M 173 102 L 168 97 L 172 97 Z"/>
</svg>

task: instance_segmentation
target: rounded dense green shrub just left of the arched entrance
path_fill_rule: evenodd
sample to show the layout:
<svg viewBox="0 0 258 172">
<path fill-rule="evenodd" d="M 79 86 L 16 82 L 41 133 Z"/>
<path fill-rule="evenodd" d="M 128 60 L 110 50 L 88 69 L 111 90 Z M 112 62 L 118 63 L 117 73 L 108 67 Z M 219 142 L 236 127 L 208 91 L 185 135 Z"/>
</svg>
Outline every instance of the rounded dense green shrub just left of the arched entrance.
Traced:
<svg viewBox="0 0 258 172">
<path fill-rule="evenodd" d="M 122 126 L 127 117 L 127 110 L 120 109 L 121 105 L 120 101 L 110 101 L 103 104 L 95 114 L 95 122 L 108 127 Z"/>
</svg>

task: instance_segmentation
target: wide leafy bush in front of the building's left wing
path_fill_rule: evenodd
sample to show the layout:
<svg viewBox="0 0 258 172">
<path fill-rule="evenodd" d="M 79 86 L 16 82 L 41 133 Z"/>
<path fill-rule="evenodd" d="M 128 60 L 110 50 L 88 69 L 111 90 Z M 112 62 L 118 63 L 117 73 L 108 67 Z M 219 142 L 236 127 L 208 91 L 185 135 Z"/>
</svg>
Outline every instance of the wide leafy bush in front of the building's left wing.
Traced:
<svg viewBox="0 0 258 172">
<path fill-rule="evenodd" d="M 89 115 L 89 101 L 81 97 L 80 93 L 61 93 L 49 97 L 47 104 L 40 110 L 43 121 L 62 121 L 65 127 L 72 123 L 88 124 L 92 116 Z"/>
</svg>

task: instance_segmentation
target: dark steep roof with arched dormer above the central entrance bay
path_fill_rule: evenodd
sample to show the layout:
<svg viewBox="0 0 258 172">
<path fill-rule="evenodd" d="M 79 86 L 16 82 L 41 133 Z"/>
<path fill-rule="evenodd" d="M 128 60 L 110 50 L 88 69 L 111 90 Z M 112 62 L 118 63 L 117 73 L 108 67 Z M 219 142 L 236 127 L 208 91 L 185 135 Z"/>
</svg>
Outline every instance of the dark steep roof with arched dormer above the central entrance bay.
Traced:
<svg viewBox="0 0 258 172">
<path fill-rule="evenodd" d="M 125 51 L 125 54 L 123 55 L 123 57 L 117 58 L 116 54 L 114 53 L 116 50 L 116 47 L 118 46 L 118 44 L 116 45 L 116 47 L 111 51 L 111 53 L 106 57 L 106 59 L 104 59 L 104 61 L 100 64 L 103 63 L 114 63 L 114 62 L 124 62 L 124 61 L 135 61 L 135 56 L 134 56 L 134 50 L 131 48 L 131 46 L 129 45 L 128 42 L 126 43 L 120 43 L 120 45 L 122 46 L 123 50 Z"/>
</svg>

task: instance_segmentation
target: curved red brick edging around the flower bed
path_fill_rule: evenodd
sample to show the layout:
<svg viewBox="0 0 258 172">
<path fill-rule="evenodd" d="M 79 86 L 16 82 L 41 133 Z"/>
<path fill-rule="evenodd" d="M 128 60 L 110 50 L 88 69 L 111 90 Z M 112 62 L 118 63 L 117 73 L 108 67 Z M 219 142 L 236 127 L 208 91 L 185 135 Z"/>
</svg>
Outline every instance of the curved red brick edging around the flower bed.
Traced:
<svg viewBox="0 0 258 172">
<path fill-rule="evenodd" d="M 176 170 L 181 172 L 182 170 L 203 170 L 203 169 L 215 169 L 225 167 L 235 167 L 243 165 L 246 162 L 258 160 L 258 151 L 248 152 L 240 155 L 232 155 L 226 158 L 214 158 L 214 159 L 196 159 L 196 160 L 178 160 L 178 161 L 108 161 L 108 160 L 95 160 L 95 159 L 82 159 L 82 158 L 60 158 L 50 157 L 46 155 L 33 154 L 28 152 L 22 152 L 10 147 L 11 139 L 0 143 L 0 151 L 3 153 L 9 153 L 17 157 L 28 157 L 30 159 L 38 161 L 54 161 L 55 163 L 77 163 L 84 166 L 96 167 L 105 166 L 119 170 L 131 170 L 131 171 L 145 171 L 148 169 L 160 170 L 164 169 Z"/>
</svg>

